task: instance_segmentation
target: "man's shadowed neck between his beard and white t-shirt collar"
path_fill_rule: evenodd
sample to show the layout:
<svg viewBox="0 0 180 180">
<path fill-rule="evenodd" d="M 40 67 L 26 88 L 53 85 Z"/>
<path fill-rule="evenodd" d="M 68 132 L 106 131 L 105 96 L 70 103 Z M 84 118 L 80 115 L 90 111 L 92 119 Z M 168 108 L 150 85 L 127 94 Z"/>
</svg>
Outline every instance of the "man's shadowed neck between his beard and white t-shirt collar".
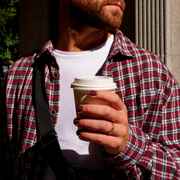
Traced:
<svg viewBox="0 0 180 180">
<path fill-rule="evenodd" d="M 62 10 L 60 12 L 63 13 L 59 17 L 56 49 L 69 52 L 89 50 L 104 43 L 111 35 L 104 30 L 77 22 L 68 12 L 66 14 Z"/>
</svg>

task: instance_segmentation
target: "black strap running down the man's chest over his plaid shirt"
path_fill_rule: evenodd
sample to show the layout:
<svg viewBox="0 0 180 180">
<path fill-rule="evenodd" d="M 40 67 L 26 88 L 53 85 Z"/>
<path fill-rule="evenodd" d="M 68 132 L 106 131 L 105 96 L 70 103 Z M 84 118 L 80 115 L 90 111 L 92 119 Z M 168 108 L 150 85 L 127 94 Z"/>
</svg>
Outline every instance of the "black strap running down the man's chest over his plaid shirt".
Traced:
<svg viewBox="0 0 180 180">
<path fill-rule="evenodd" d="M 45 53 L 46 54 L 46 53 Z M 49 56 L 37 58 L 34 63 L 33 72 L 33 91 L 34 91 L 34 107 L 37 126 L 39 129 L 39 140 L 44 148 L 44 156 L 56 174 L 63 179 L 68 179 L 70 166 L 62 154 L 57 134 L 54 130 L 54 124 L 49 114 L 48 101 L 45 93 L 45 62 Z M 67 178 L 66 178 L 67 177 Z"/>
</svg>

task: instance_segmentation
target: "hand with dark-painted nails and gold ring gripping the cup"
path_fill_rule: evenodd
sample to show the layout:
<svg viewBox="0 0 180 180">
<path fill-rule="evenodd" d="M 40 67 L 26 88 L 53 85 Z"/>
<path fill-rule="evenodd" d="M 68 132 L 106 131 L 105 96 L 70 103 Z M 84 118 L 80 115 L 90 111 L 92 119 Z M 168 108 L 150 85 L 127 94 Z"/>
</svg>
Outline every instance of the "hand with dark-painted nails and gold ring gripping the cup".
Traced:
<svg viewBox="0 0 180 180">
<path fill-rule="evenodd" d="M 126 106 L 119 96 L 109 91 L 91 91 L 91 97 L 107 105 L 82 104 L 77 112 L 83 119 L 75 119 L 81 127 L 77 131 L 80 138 L 101 144 L 109 154 L 119 154 L 126 147 L 129 137 L 129 123 Z M 111 134 L 114 123 L 114 130 Z"/>
</svg>

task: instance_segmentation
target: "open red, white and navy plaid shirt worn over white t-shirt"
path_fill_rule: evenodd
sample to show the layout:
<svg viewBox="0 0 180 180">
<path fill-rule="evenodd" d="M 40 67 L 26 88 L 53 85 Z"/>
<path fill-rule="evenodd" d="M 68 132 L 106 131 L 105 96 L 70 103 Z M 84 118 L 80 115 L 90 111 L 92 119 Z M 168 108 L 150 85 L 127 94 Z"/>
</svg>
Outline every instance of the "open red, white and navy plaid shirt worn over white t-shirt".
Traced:
<svg viewBox="0 0 180 180">
<path fill-rule="evenodd" d="M 35 58 L 48 59 L 45 89 L 49 111 L 57 112 L 52 116 L 56 124 L 60 77 L 53 76 L 59 67 L 52 51 L 48 41 L 40 52 L 16 61 L 5 78 L 0 120 L 0 177 L 5 174 L 5 179 L 41 179 L 45 172 L 32 102 L 32 77 Z M 156 55 L 132 43 L 119 30 L 99 73 L 114 78 L 116 93 L 127 106 L 129 117 L 130 135 L 124 151 L 110 156 L 103 150 L 111 178 L 121 179 L 118 174 L 123 172 L 127 179 L 179 180 L 180 90 L 172 74 Z"/>
</svg>

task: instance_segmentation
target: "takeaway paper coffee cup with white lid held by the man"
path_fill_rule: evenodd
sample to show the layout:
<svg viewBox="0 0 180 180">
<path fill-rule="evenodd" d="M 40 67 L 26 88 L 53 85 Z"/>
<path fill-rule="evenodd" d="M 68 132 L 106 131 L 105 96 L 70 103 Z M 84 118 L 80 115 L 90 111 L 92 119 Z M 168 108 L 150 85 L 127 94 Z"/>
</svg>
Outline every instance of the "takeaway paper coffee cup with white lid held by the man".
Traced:
<svg viewBox="0 0 180 180">
<path fill-rule="evenodd" d="M 93 99 L 90 96 L 91 90 L 106 90 L 114 92 L 116 88 L 112 77 L 106 76 L 82 76 L 74 79 L 71 88 L 74 90 L 75 108 L 80 104 L 106 104 L 103 101 Z M 80 117 L 77 114 L 77 117 Z"/>
</svg>

